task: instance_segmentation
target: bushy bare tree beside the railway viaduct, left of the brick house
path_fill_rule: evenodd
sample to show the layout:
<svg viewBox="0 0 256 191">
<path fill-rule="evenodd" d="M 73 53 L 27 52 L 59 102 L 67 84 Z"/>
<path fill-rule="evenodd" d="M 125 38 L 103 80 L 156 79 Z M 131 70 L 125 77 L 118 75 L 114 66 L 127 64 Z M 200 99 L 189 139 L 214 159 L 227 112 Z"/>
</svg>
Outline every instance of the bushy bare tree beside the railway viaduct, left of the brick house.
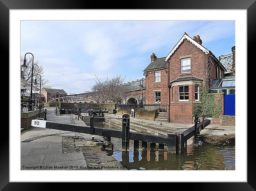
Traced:
<svg viewBox="0 0 256 191">
<path fill-rule="evenodd" d="M 129 96 L 129 88 L 123 85 L 125 77 L 121 75 L 105 79 L 100 79 L 96 75 L 95 77 L 95 85 L 92 86 L 92 96 L 95 101 L 121 104 Z"/>
</svg>

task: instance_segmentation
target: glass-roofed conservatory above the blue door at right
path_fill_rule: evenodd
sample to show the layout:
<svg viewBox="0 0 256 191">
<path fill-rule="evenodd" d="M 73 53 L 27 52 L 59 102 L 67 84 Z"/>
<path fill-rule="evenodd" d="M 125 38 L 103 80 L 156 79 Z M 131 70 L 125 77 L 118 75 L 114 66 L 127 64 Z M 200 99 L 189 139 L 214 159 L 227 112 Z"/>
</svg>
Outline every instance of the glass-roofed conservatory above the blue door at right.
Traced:
<svg viewBox="0 0 256 191">
<path fill-rule="evenodd" d="M 212 93 L 224 92 L 224 94 L 235 94 L 235 87 L 235 77 L 215 79 L 210 84 Z"/>
</svg>

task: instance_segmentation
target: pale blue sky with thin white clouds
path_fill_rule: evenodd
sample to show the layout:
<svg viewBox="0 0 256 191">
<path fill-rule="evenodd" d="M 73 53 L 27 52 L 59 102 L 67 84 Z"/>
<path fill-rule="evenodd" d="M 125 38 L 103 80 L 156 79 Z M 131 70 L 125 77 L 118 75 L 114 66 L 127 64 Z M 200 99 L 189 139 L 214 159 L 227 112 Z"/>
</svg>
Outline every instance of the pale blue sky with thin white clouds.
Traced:
<svg viewBox="0 0 256 191">
<path fill-rule="evenodd" d="M 52 88 L 83 93 L 95 76 L 143 78 L 152 52 L 167 56 L 184 32 L 216 57 L 235 46 L 235 21 L 21 21 L 20 54 L 33 53 Z"/>
</svg>

